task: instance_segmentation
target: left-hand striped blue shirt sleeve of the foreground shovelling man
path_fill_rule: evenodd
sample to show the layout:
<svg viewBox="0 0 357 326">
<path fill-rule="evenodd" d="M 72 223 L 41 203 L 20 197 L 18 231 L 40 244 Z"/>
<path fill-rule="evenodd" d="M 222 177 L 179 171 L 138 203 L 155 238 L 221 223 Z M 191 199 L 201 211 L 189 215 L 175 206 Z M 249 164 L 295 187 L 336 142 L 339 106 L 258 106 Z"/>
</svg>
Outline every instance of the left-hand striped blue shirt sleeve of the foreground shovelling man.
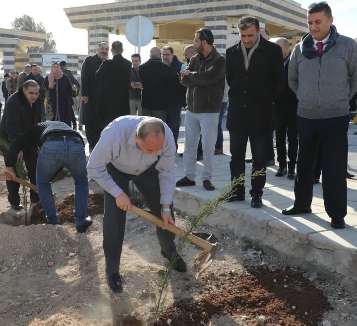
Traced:
<svg viewBox="0 0 357 326">
<path fill-rule="evenodd" d="M 107 165 L 113 160 L 113 139 L 114 135 L 111 135 L 110 130 L 103 131 L 98 144 L 89 157 L 87 171 L 89 176 L 105 191 L 109 192 L 114 198 L 117 198 L 123 190 L 107 171 Z"/>
</svg>

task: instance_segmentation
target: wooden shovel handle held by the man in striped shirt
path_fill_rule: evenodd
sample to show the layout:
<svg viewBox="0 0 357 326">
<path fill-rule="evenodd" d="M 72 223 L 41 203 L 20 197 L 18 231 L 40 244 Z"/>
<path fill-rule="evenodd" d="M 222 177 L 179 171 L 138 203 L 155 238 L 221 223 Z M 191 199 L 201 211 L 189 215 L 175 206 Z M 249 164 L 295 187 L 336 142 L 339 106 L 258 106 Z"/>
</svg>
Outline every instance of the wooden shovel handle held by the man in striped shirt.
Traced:
<svg viewBox="0 0 357 326">
<path fill-rule="evenodd" d="M 163 227 L 164 226 L 164 221 L 162 219 L 159 219 L 158 217 L 156 217 L 155 215 L 147 212 L 147 211 L 144 211 L 142 209 L 140 209 L 139 207 L 136 207 L 134 205 L 131 204 L 131 211 L 137 215 L 140 215 L 141 217 L 143 217 L 145 220 L 148 220 L 152 223 L 155 223 L 158 227 Z M 177 227 L 176 225 L 173 225 L 173 224 L 170 224 L 169 223 L 169 226 L 167 228 L 168 231 L 176 234 L 177 236 L 179 237 L 183 237 L 185 232 Z M 193 243 L 193 244 L 197 244 L 199 245 L 201 248 L 203 249 L 206 249 L 207 251 L 211 251 L 212 248 L 214 247 L 214 244 L 210 244 L 209 242 L 207 241 L 204 241 L 203 239 L 201 238 L 198 238 L 192 234 L 189 234 L 187 239 Z"/>
</svg>

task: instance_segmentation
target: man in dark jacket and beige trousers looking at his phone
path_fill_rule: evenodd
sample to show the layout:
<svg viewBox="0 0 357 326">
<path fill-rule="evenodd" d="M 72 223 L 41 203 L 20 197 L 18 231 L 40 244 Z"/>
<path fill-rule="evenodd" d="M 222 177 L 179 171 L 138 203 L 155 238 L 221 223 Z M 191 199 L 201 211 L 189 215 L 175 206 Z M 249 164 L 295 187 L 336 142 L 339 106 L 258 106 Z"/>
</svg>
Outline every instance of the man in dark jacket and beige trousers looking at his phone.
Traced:
<svg viewBox="0 0 357 326">
<path fill-rule="evenodd" d="M 130 87 L 129 87 L 130 115 L 142 115 L 141 113 L 142 83 L 138 75 L 140 64 L 141 64 L 140 54 L 134 53 L 131 56 L 132 68 L 131 68 Z"/>
</svg>

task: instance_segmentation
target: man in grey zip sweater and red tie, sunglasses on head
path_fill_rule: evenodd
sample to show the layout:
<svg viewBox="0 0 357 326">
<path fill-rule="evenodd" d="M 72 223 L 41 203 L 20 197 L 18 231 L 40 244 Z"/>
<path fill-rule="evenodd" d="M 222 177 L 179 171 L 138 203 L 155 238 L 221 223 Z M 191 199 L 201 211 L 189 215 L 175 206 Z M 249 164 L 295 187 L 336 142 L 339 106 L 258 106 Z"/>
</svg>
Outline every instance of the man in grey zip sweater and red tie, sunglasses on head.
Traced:
<svg viewBox="0 0 357 326">
<path fill-rule="evenodd" d="M 337 33 L 327 2 L 307 11 L 309 32 L 289 64 L 289 86 L 297 94 L 299 150 L 295 203 L 285 215 L 311 213 L 313 165 L 321 149 L 322 188 L 331 227 L 345 228 L 349 101 L 357 91 L 357 44 Z"/>
</svg>

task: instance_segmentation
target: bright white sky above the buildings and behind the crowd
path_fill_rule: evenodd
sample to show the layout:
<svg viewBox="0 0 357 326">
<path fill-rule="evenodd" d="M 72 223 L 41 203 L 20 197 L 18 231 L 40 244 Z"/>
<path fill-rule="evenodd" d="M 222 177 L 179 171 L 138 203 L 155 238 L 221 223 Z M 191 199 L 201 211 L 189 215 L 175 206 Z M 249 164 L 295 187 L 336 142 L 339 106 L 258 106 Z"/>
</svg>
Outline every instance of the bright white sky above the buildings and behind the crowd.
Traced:
<svg viewBox="0 0 357 326">
<path fill-rule="evenodd" d="M 299 0 L 302 7 L 307 8 L 312 0 Z M 1 4 L 1 28 L 11 28 L 11 22 L 15 17 L 23 14 L 32 16 L 36 22 L 42 21 L 47 31 L 52 32 L 57 43 L 58 53 L 64 54 L 87 54 L 87 31 L 84 29 L 73 28 L 65 15 L 63 8 L 73 6 L 83 6 L 99 3 L 110 3 L 113 0 L 60 0 L 44 1 L 37 0 L 6 0 Z M 36 3 L 35 5 L 33 3 Z M 340 34 L 357 38 L 357 0 L 329 0 L 332 8 L 334 24 Z M 110 35 L 110 43 L 114 40 L 123 42 L 123 56 L 130 59 L 135 49 L 126 41 L 124 36 Z M 154 41 L 142 49 L 142 59 L 148 59 L 150 47 Z"/>
</svg>

